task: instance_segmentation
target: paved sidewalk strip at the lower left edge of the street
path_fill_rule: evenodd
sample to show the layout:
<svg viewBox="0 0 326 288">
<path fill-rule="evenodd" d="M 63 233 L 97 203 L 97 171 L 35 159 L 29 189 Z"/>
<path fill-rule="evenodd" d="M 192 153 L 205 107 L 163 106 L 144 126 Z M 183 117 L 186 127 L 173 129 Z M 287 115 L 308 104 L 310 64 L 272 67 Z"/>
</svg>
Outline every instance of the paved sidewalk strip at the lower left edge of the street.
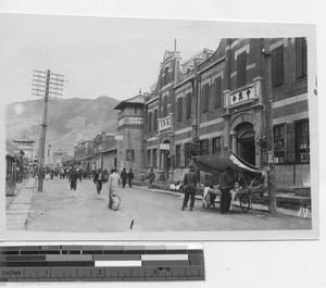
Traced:
<svg viewBox="0 0 326 288">
<path fill-rule="evenodd" d="M 24 185 L 25 184 L 25 185 Z M 29 178 L 18 187 L 18 193 L 7 208 L 7 229 L 22 230 L 30 212 L 32 199 L 35 192 L 36 178 Z"/>
</svg>

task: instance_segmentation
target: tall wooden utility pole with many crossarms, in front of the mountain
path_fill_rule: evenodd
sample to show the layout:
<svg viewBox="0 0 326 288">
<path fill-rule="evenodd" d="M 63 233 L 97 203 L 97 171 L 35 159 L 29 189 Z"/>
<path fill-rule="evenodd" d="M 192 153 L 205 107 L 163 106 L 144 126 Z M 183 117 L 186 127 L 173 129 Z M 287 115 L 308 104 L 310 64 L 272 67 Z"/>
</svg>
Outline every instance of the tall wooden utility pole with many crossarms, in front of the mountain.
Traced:
<svg viewBox="0 0 326 288">
<path fill-rule="evenodd" d="M 62 96 L 59 91 L 62 91 L 63 75 L 51 73 L 47 71 L 34 71 L 33 74 L 32 95 L 45 98 L 45 111 L 41 123 L 41 134 L 39 139 L 39 156 L 38 156 L 38 192 L 43 190 L 43 166 L 45 166 L 45 152 L 46 152 L 46 132 L 47 132 L 47 117 L 49 98 L 58 99 L 57 96 Z M 50 97 L 53 95 L 53 97 Z"/>
</svg>

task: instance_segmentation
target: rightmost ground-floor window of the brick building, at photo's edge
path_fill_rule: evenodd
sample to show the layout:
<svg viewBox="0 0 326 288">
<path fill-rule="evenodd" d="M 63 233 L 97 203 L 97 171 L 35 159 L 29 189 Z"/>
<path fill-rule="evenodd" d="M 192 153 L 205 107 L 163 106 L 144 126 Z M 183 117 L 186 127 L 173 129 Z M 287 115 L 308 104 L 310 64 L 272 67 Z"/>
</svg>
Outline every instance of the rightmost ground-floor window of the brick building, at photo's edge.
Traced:
<svg viewBox="0 0 326 288">
<path fill-rule="evenodd" d="M 296 160 L 298 163 L 310 162 L 309 122 L 296 123 Z"/>
</svg>

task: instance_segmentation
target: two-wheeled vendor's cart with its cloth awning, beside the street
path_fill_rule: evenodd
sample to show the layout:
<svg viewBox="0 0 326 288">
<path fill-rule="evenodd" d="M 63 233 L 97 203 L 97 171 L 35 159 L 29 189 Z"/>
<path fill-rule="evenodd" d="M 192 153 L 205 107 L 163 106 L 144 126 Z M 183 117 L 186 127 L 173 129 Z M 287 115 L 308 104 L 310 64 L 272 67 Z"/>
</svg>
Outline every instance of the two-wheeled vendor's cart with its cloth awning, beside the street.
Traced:
<svg viewBox="0 0 326 288">
<path fill-rule="evenodd" d="M 192 161 L 201 171 L 208 174 L 218 176 L 227 167 L 233 168 L 238 174 L 237 177 L 240 178 L 241 185 L 230 190 L 230 210 L 233 209 L 233 203 L 238 200 L 242 212 L 248 213 L 252 209 L 252 196 L 255 193 L 263 196 L 264 172 L 231 151 L 224 151 L 213 155 L 192 156 Z M 246 179 L 244 174 L 252 174 L 250 183 Z"/>
</svg>

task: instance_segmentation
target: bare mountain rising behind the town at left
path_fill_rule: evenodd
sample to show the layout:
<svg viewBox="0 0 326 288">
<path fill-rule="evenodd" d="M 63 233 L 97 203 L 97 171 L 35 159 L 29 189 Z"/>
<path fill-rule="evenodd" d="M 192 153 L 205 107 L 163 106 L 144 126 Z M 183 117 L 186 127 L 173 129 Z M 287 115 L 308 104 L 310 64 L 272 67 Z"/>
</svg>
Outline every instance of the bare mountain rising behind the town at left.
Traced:
<svg viewBox="0 0 326 288">
<path fill-rule="evenodd" d="M 52 151 L 60 148 L 73 154 L 74 145 L 80 139 L 92 139 L 98 133 L 116 133 L 117 113 L 113 110 L 120 101 L 106 96 L 97 99 L 50 99 L 46 145 Z M 7 105 L 7 138 L 18 139 L 24 135 L 35 140 L 38 148 L 45 100 L 29 100 Z"/>
</svg>

